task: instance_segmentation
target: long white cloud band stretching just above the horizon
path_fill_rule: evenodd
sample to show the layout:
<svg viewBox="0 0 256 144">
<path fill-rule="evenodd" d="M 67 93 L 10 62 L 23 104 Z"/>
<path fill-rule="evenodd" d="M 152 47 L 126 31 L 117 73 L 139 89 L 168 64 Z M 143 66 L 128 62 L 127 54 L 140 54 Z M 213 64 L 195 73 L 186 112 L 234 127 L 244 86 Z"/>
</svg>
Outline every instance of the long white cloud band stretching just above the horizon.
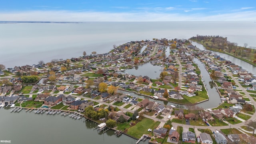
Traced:
<svg viewBox="0 0 256 144">
<path fill-rule="evenodd" d="M 185 10 L 189 12 L 190 10 Z M 132 21 L 243 21 L 256 20 L 256 10 L 228 14 L 157 13 L 157 12 L 72 12 L 72 11 L 25 11 L 0 12 L 2 21 L 60 21 L 60 22 L 132 22 Z"/>
</svg>

